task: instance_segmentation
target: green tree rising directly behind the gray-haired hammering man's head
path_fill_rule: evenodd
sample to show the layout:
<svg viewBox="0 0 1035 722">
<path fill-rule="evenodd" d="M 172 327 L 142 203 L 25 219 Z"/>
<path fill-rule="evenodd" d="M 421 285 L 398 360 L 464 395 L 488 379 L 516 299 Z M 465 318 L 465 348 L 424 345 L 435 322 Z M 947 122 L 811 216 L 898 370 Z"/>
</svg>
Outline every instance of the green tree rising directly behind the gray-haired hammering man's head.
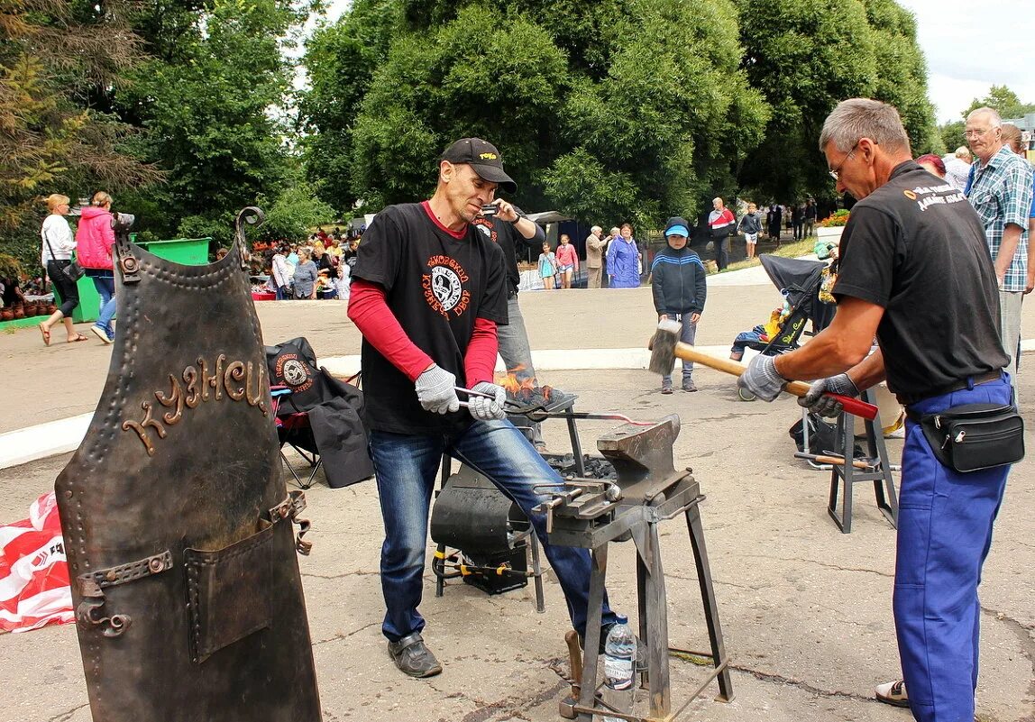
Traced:
<svg viewBox="0 0 1035 722">
<path fill-rule="evenodd" d="M 750 153 L 741 185 L 764 198 L 830 195 L 817 148 L 840 100 L 894 104 L 914 148 L 936 133 L 926 71 L 912 13 L 892 0 L 737 0 L 743 66 L 772 109 L 765 141 Z"/>
</svg>

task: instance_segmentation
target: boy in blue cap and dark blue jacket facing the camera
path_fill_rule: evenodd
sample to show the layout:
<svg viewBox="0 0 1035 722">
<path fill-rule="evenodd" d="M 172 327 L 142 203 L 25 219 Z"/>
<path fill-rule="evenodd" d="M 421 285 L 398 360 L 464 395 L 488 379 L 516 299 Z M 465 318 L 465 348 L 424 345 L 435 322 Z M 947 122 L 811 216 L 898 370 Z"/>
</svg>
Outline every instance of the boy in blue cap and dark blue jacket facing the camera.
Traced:
<svg viewBox="0 0 1035 722">
<path fill-rule="evenodd" d="M 682 324 L 679 340 L 693 344 L 698 322 L 705 309 L 708 288 L 705 266 L 701 258 L 686 245 L 690 235 L 685 218 L 673 216 L 664 227 L 668 245 L 658 251 L 651 264 L 654 310 L 657 320 L 672 319 Z M 693 362 L 683 361 L 683 391 L 697 391 L 693 385 Z M 661 378 L 661 393 L 672 393 L 672 374 Z"/>
</svg>

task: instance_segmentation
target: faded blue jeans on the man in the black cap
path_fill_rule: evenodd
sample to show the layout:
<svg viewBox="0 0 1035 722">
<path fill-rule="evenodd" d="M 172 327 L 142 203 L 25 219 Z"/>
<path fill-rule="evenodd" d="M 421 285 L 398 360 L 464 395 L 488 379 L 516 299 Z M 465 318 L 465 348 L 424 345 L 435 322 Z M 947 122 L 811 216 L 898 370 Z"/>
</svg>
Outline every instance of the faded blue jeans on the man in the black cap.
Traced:
<svg viewBox="0 0 1035 722">
<path fill-rule="evenodd" d="M 571 624 L 575 631 L 585 635 L 589 551 L 552 546 L 546 541 L 545 517 L 532 513 L 532 507 L 544 499 L 532 491 L 532 486 L 559 483 L 561 477 L 513 424 L 509 421 L 475 421 L 456 437 L 372 430 L 369 440 L 385 525 L 385 541 L 381 546 L 381 591 L 387 610 L 381 630 L 390 641 L 397 641 L 424 628 L 424 618 L 417 611 L 417 606 L 423 591 L 427 517 L 432 491 L 445 452 L 491 479 L 532 521 L 564 591 Z M 615 621 L 607 597 L 602 621 L 603 624 Z"/>
</svg>

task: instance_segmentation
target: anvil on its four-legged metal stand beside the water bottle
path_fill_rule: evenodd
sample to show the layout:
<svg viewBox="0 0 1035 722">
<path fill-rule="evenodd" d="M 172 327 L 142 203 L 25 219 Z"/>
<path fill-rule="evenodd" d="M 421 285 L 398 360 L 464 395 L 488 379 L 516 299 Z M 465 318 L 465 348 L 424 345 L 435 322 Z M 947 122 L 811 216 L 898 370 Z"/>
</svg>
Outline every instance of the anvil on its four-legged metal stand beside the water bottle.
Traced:
<svg viewBox="0 0 1035 722">
<path fill-rule="evenodd" d="M 586 622 L 585 659 L 579 699 L 561 702 L 561 716 L 591 722 L 593 715 L 610 715 L 632 722 L 668 722 L 675 719 L 718 678 L 719 701 L 733 699 L 722 629 L 712 588 L 708 553 L 705 549 L 699 503 L 704 499 L 690 471 L 676 472 L 672 447 L 679 434 L 679 417 L 670 416 L 651 427 L 623 425 L 601 437 L 597 449 L 615 465 L 622 499 L 616 503 L 596 495 L 583 494 L 568 504 L 548 510 L 551 544 L 590 549 L 589 609 Z M 669 620 L 666 604 L 664 572 L 658 522 L 680 514 L 693 548 L 693 559 L 701 585 L 705 622 L 711 654 L 680 650 L 669 645 Z M 614 712 L 596 706 L 597 662 L 600 644 L 604 581 L 608 573 L 608 543 L 631 536 L 637 549 L 637 596 L 639 598 L 640 638 L 647 643 L 647 687 L 650 691 L 650 715 Z M 669 653 L 684 652 L 712 660 L 714 669 L 683 704 L 672 713 Z"/>
</svg>

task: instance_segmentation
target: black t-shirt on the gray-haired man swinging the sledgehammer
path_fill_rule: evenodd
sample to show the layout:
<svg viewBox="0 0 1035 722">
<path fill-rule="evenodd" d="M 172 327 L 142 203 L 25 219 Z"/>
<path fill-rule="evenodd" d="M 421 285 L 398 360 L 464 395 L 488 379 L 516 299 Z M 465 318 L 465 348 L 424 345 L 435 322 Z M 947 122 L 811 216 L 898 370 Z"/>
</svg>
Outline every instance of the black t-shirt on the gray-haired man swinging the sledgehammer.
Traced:
<svg viewBox="0 0 1035 722">
<path fill-rule="evenodd" d="M 963 193 L 912 160 L 852 208 L 834 296 L 885 308 L 877 337 L 888 388 L 904 402 L 1007 362 L 981 221 Z"/>
</svg>

